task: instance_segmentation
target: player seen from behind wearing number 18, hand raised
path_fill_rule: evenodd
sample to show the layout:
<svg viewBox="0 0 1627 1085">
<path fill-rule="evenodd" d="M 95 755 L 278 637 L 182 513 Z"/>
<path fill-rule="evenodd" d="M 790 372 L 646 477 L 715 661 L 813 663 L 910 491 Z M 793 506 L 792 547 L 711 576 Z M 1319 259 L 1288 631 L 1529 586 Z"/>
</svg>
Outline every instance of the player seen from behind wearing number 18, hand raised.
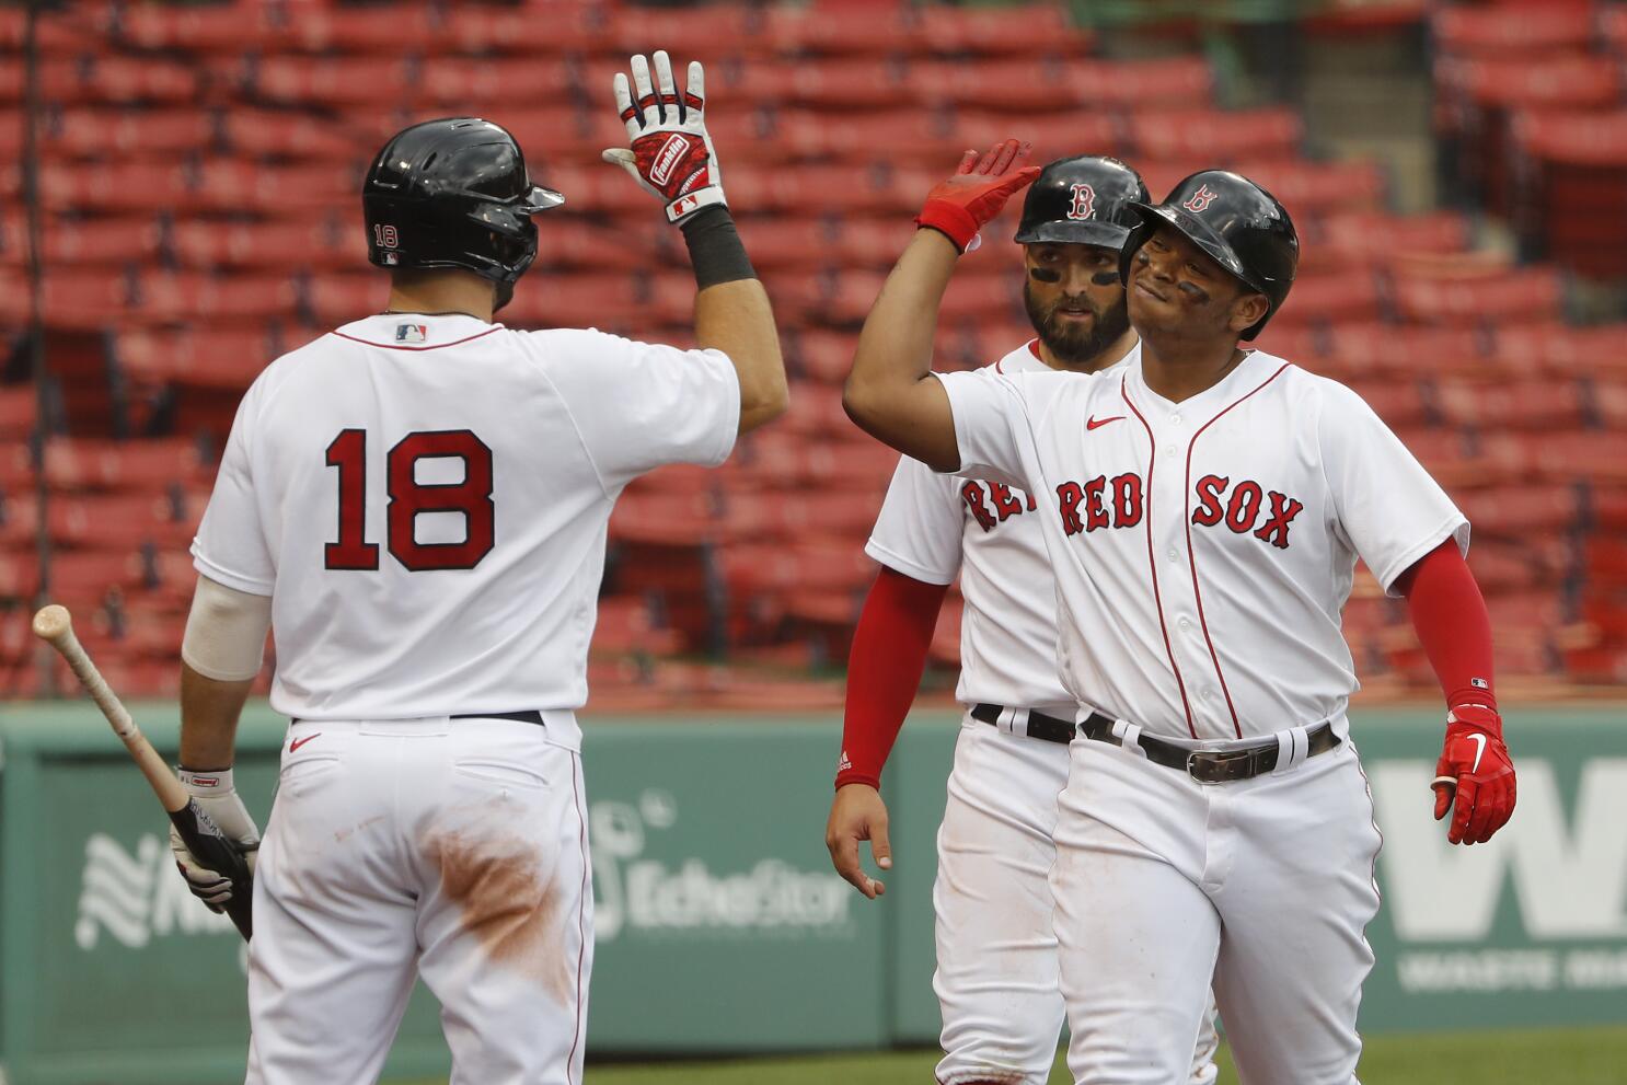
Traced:
<svg viewBox="0 0 1627 1085">
<path fill-rule="evenodd" d="M 636 94 L 636 99 L 635 99 Z M 277 639 L 293 717 L 254 878 L 251 1083 L 376 1082 L 415 973 L 452 1082 L 582 1075 L 592 965 L 574 709 L 610 508 L 662 464 L 721 464 L 786 408 L 773 314 L 724 202 L 701 65 L 615 96 L 605 151 L 688 242 L 698 350 L 514 332 L 537 254 L 514 138 L 431 120 L 368 172 L 386 311 L 286 355 L 242 399 L 192 553 L 182 778 L 254 848 L 233 732 Z M 198 893 L 241 891 L 176 844 Z"/>
</svg>

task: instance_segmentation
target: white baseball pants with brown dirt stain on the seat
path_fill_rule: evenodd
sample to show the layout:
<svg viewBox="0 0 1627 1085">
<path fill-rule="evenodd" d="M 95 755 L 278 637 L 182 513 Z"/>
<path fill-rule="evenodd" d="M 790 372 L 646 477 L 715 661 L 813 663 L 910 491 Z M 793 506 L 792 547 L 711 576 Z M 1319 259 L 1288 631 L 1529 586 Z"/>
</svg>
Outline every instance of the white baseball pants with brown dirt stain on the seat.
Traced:
<svg viewBox="0 0 1627 1085">
<path fill-rule="evenodd" d="M 371 1085 L 415 974 L 452 1085 L 581 1085 L 581 758 L 503 719 L 290 729 L 254 885 L 249 1085 Z"/>
</svg>

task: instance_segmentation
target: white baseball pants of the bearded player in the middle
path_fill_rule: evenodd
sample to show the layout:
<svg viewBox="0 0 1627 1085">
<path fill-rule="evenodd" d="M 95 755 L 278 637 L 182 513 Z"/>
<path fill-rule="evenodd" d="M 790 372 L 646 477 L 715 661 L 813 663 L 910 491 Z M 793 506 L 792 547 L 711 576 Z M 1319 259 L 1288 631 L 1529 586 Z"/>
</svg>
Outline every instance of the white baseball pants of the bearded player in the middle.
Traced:
<svg viewBox="0 0 1627 1085">
<path fill-rule="evenodd" d="M 1066 1007 L 1048 875 L 1066 784 L 1066 747 L 963 719 L 932 887 L 942 1085 L 1045 1085 L 1051 1077 Z M 1212 1007 L 1193 1036 L 1191 1062 L 1171 1080 L 1207 1085 L 1219 1046 Z"/>
</svg>

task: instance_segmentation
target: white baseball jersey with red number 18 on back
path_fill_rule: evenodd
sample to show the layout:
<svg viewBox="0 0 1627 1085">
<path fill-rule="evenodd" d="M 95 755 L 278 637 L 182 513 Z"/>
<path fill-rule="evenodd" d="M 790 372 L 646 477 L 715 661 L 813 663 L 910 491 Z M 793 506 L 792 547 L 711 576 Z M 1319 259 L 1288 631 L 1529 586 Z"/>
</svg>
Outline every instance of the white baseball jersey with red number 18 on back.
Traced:
<svg viewBox="0 0 1627 1085">
<path fill-rule="evenodd" d="M 254 381 L 194 561 L 272 595 L 288 716 L 574 709 L 615 498 L 722 462 L 739 418 L 719 351 L 366 317 Z"/>
</svg>

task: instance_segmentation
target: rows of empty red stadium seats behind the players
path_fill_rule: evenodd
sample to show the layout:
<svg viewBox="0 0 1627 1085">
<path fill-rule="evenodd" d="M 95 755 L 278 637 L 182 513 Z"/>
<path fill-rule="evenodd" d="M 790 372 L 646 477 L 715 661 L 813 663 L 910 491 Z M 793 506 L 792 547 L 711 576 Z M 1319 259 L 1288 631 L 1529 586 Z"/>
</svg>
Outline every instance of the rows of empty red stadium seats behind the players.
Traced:
<svg viewBox="0 0 1627 1085">
<path fill-rule="evenodd" d="M 42 425 L 52 592 L 132 693 L 171 693 L 190 530 L 242 389 L 278 353 L 376 311 L 358 185 L 412 120 L 513 129 L 563 190 L 501 319 L 683 343 L 693 281 L 659 210 L 599 161 L 610 76 L 656 47 L 708 65 L 709 125 L 794 376 L 787 418 L 718 472 L 628 490 L 594 647 L 595 699 L 814 706 L 844 659 L 895 457 L 846 420 L 859 324 L 926 189 L 966 146 L 1113 153 L 1155 195 L 1207 166 L 1290 208 L 1302 277 L 1261 346 L 1357 387 L 1476 521 L 1505 688 L 1627 677 L 1627 327 L 1567 324 L 1575 277 L 1627 277 L 1627 5 L 1446 5 L 1430 20 L 1446 210 L 1396 215 L 1373 161 L 1305 153 L 1293 109 L 1225 111 L 1196 52 L 1103 55 L 1064 8 L 608 0 L 347 7 L 80 3 L 41 21 L 41 257 L 50 418 L 21 355 L 0 387 L 0 688 L 37 688 Z M 0 333 L 28 320 L 23 15 L 0 8 Z M 1515 264 L 1479 244 L 1510 220 Z M 944 368 L 1030 337 L 1015 216 L 944 306 Z M 957 597 L 952 604 L 958 607 Z M 1346 613 L 1363 682 L 1432 688 L 1404 608 L 1370 577 Z M 958 654 L 945 613 L 934 657 Z"/>
</svg>

